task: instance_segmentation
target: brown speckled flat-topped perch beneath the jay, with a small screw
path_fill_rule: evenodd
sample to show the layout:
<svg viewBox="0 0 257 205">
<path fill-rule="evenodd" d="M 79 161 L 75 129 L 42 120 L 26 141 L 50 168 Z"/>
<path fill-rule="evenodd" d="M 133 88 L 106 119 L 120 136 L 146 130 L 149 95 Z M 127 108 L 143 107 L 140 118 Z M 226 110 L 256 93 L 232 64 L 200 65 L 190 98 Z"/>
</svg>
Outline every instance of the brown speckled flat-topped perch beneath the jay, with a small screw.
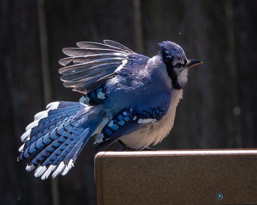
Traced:
<svg viewBox="0 0 257 205">
<path fill-rule="evenodd" d="M 97 204 L 257 204 L 257 150 L 100 152 Z"/>
</svg>

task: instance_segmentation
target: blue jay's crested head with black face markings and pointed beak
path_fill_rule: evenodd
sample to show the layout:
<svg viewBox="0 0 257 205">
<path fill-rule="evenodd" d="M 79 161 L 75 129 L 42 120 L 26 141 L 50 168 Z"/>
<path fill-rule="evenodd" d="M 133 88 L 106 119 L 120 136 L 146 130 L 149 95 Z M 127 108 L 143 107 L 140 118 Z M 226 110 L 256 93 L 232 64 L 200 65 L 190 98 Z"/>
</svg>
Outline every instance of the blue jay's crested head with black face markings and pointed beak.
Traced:
<svg viewBox="0 0 257 205">
<path fill-rule="evenodd" d="M 172 80 L 172 87 L 181 89 L 188 80 L 188 69 L 203 62 L 200 60 L 188 60 L 183 49 L 174 42 L 164 41 L 158 44 L 167 72 Z"/>
</svg>

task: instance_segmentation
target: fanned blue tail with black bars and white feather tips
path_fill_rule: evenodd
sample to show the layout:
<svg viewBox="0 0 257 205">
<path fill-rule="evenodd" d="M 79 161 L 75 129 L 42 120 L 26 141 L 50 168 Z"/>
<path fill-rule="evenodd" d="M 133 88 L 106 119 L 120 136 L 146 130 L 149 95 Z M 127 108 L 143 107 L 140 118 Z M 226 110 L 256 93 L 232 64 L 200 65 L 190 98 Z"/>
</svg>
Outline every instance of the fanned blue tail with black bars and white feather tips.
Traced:
<svg viewBox="0 0 257 205">
<path fill-rule="evenodd" d="M 30 158 L 27 171 L 46 179 L 65 175 L 101 122 L 91 107 L 75 102 L 50 103 L 34 116 L 21 140 L 18 161 Z"/>
</svg>

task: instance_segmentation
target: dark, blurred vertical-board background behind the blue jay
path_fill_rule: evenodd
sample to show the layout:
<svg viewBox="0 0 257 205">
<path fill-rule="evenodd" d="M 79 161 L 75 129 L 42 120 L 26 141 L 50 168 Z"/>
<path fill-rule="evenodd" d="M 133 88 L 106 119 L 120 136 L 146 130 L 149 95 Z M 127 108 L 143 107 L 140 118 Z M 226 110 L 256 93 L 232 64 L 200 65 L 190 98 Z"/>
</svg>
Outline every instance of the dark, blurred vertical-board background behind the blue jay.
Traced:
<svg viewBox="0 0 257 205">
<path fill-rule="evenodd" d="M 158 149 L 256 148 L 256 1 L 1 0 L 0 204 L 95 204 L 93 145 L 66 176 L 35 178 L 17 163 L 20 136 L 49 101 L 78 100 L 58 74 L 62 48 L 113 39 L 153 56 L 174 40 L 190 71 L 175 126 Z"/>
</svg>

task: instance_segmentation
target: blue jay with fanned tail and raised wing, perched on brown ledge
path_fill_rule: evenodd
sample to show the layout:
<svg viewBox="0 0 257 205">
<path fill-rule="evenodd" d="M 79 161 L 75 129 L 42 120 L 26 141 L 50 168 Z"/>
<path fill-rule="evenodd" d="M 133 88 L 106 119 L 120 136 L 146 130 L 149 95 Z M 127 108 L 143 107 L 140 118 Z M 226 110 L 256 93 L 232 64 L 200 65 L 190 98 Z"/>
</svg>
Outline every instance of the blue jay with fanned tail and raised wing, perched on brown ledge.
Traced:
<svg viewBox="0 0 257 205">
<path fill-rule="evenodd" d="M 79 102 L 57 101 L 37 113 L 21 136 L 18 161 L 30 158 L 27 171 L 46 179 L 65 175 L 90 137 L 96 152 L 118 141 L 124 149 L 147 150 L 173 127 L 188 70 L 188 60 L 174 42 L 158 44 L 154 57 L 104 40 L 64 48 L 59 63 L 64 87 L 83 93 Z"/>
</svg>

